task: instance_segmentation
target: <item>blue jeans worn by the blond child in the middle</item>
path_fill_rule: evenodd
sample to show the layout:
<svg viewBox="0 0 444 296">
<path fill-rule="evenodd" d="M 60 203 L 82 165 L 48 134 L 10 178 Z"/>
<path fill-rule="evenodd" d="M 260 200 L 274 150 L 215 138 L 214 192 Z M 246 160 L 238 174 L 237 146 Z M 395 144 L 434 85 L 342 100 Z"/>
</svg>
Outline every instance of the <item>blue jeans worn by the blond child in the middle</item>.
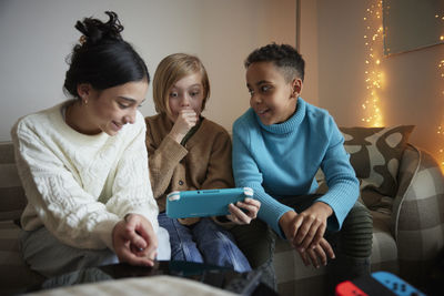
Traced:
<svg viewBox="0 0 444 296">
<path fill-rule="evenodd" d="M 206 263 L 231 267 L 238 273 L 250 272 L 249 261 L 239 249 L 233 235 L 211 218 L 182 225 L 165 213 L 159 214 L 159 225 L 170 235 L 171 259 Z"/>
</svg>

